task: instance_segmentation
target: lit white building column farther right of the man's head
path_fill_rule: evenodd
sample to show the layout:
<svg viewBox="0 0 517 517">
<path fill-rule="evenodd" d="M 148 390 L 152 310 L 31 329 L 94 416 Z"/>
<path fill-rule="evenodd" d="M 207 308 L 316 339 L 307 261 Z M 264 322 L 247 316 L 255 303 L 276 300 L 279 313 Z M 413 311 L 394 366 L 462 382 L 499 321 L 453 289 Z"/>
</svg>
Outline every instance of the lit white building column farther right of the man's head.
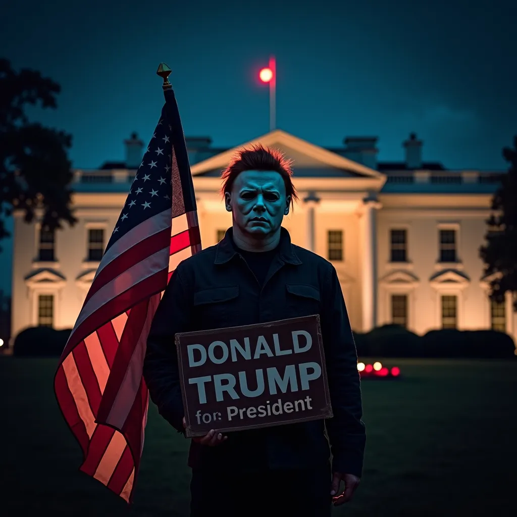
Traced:
<svg viewBox="0 0 517 517">
<path fill-rule="evenodd" d="M 381 204 L 374 199 L 363 200 L 362 219 L 362 331 L 377 324 L 377 231 L 376 210 Z"/>
</svg>

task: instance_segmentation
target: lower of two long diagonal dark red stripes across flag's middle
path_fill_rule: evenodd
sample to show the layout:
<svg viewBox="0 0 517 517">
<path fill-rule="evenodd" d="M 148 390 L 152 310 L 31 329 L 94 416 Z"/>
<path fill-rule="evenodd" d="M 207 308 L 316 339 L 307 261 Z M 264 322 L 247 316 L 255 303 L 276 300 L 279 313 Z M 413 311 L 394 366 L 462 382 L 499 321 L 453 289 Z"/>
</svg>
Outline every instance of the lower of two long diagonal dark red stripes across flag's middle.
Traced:
<svg viewBox="0 0 517 517">
<path fill-rule="evenodd" d="M 161 271 L 156 272 L 154 275 L 151 275 L 138 284 L 133 285 L 127 291 L 124 291 L 124 293 L 120 293 L 118 296 L 115 296 L 93 314 L 90 314 L 86 320 L 84 320 L 81 325 L 75 329 L 72 336 L 70 336 L 65 347 L 65 355 L 73 348 L 75 342 L 74 337 L 77 336 L 84 339 L 84 337 L 89 336 L 89 334 L 94 332 L 96 328 L 103 326 L 105 323 L 110 323 L 111 325 L 111 320 L 126 311 L 129 307 L 134 307 L 136 303 L 149 298 L 153 294 L 163 291 L 165 288 L 167 273 L 167 269 L 162 269 Z M 98 333 L 99 339 L 104 346 L 104 336 L 101 336 L 100 328 Z M 108 349 L 111 349 L 113 346 L 118 348 L 118 339 L 115 331 L 113 331 L 113 337 L 114 340 L 113 338 L 109 338 L 108 340 Z"/>
</svg>

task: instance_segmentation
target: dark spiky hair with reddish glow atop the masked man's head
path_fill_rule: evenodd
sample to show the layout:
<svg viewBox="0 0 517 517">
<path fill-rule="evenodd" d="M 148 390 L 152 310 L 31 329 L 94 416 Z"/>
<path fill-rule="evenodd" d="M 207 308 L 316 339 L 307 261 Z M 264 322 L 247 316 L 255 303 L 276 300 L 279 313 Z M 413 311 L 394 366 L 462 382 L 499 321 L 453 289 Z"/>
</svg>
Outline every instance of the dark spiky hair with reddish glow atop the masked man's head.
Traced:
<svg viewBox="0 0 517 517">
<path fill-rule="evenodd" d="M 293 185 L 293 160 L 285 158 L 284 154 L 278 149 L 264 147 L 255 144 L 250 147 L 240 149 L 232 158 L 230 164 L 221 174 L 223 185 L 221 194 L 232 190 L 235 178 L 244 171 L 276 171 L 282 176 L 285 185 L 286 195 L 291 196 L 291 206 L 294 201 L 298 201 L 298 193 Z"/>
</svg>

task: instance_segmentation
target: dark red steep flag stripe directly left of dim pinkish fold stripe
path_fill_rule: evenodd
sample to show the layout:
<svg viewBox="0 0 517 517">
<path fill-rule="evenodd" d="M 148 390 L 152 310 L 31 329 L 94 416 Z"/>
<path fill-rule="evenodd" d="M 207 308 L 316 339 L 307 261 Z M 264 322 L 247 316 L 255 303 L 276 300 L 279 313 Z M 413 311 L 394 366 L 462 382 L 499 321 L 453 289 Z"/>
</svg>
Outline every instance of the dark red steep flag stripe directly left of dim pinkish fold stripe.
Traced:
<svg viewBox="0 0 517 517">
<path fill-rule="evenodd" d="M 121 384 L 126 376 L 129 362 L 133 356 L 134 349 L 138 343 L 138 339 L 145 324 L 145 318 L 149 307 L 149 298 L 141 301 L 131 310 L 131 316 L 128 317 L 126 326 L 124 327 L 124 334 L 120 340 L 118 353 L 113 363 L 113 369 L 108 379 L 108 383 L 104 388 L 102 397 L 102 404 L 99 408 L 98 418 L 101 421 L 106 421 L 110 410 L 113 406 L 115 398 Z"/>
</svg>

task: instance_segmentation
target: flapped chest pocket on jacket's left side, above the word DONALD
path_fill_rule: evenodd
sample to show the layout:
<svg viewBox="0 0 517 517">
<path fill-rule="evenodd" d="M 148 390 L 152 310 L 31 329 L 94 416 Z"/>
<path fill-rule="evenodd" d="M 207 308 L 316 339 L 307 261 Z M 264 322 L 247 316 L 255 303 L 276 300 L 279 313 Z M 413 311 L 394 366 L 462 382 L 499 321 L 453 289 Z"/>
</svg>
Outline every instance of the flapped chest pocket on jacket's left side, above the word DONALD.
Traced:
<svg viewBox="0 0 517 517">
<path fill-rule="evenodd" d="M 212 287 L 194 293 L 196 326 L 200 330 L 235 325 L 239 286 Z"/>
</svg>

